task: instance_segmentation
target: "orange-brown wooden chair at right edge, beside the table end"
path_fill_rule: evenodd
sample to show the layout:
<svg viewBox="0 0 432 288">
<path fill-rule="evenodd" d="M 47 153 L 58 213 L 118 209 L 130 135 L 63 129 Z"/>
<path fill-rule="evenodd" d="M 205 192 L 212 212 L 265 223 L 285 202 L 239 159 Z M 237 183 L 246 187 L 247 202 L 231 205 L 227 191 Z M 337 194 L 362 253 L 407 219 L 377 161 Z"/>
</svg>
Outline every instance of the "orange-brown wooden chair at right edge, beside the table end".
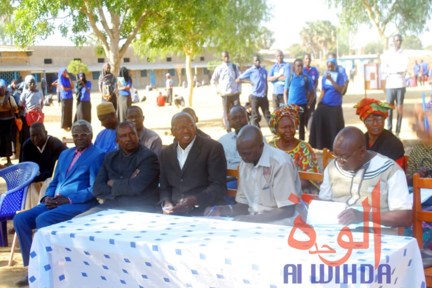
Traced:
<svg viewBox="0 0 432 288">
<path fill-rule="evenodd" d="M 420 174 L 413 177 L 413 234 L 420 249 L 423 248 L 423 222 L 432 222 L 432 212 L 422 211 L 420 188 L 432 189 L 431 178 L 420 178 Z M 432 287 L 432 267 L 425 269 L 426 286 Z"/>
</svg>

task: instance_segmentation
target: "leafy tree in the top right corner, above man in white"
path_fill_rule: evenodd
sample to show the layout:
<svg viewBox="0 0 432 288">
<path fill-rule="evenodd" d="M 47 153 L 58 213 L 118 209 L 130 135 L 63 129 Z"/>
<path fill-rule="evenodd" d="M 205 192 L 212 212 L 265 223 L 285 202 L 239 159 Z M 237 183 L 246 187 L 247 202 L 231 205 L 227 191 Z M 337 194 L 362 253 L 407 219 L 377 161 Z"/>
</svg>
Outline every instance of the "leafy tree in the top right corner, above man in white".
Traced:
<svg viewBox="0 0 432 288">
<path fill-rule="evenodd" d="M 339 19 L 344 26 L 357 30 L 361 24 L 375 27 L 388 49 L 388 38 L 397 31 L 419 35 L 431 19 L 430 0 L 327 0 L 329 6 L 341 8 Z M 389 28 L 390 27 L 390 28 Z M 394 30 L 392 31 L 391 28 Z"/>
</svg>

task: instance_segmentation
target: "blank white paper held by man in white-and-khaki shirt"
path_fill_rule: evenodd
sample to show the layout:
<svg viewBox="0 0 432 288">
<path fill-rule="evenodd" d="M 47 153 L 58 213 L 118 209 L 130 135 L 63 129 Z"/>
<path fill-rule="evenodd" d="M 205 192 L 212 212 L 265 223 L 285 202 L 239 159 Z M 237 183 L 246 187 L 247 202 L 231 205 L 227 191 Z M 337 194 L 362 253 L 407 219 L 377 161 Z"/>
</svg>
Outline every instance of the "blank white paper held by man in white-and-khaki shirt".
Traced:
<svg viewBox="0 0 432 288">
<path fill-rule="evenodd" d="M 306 223 L 310 225 L 339 224 L 338 215 L 346 204 L 332 201 L 313 200 L 309 204 Z"/>
</svg>

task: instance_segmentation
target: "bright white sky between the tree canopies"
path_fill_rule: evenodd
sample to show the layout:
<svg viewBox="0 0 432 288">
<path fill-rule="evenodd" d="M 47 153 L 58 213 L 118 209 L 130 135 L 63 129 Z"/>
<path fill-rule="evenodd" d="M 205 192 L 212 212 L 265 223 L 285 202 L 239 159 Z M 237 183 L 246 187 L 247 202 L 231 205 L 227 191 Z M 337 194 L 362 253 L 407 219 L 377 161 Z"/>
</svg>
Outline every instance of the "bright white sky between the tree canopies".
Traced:
<svg viewBox="0 0 432 288">
<path fill-rule="evenodd" d="M 339 26 L 339 19 L 335 9 L 329 9 L 325 0 L 267 0 L 273 5 L 273 16 L 268 23 L 265 23 L 274 32 L 276 39 L 273 48 L 287 49 L 293 43 L 301 43 L 300 30 L 307 21 L 330 20 L 334 25 Z M 428 27 L 432 27 L 429 21 Z M 73 44 L 66 39 L 62 39 L 58 32 L 45 41 L 40 41 L 37 45 L 69 45 Z M 362 46 L 364 43 L 379 40 L 375 28 L 364 25 L 359 28 L 354 37 L 354 46 Z M 423 46 L 432 45 L 432 32 L 425 32 L 420 35 Z"/>
</svg>

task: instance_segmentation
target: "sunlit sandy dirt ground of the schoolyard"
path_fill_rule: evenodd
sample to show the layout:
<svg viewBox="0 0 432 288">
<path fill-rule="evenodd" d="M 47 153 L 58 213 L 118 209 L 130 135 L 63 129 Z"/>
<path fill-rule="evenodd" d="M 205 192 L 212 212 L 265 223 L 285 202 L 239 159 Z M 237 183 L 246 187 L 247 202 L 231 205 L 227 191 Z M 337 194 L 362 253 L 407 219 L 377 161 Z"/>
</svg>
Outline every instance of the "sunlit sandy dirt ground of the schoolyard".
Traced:
<svg viewBox="0 0 432 288">
<path fill-rule="evenodd" d="M 359 117 L 355 114 L 356 110 L 352 108 L 360 99 L 364 97 L 363 82 L 362 78 L 357 77 L 355 82 L 350 83 L 348 87 L 348 93 L 344 96 L 343 100 L 343 111 L 346 126 L 357 126 L 365 131 L 364 125 L 360 122 Z M 271 85 L 270 85 L 271 86 Z M 251 87 L 243 84 L 243 93 L 241 95 L 241 103 L 244 104 L 247 101 L 247 97 L 250 93 Z M 176 106 L 165 106 L 157 107 L 156 96 L 158 91 L 164 93 L 164 89 L 155 91 L 145 91 L 139 89 L 140 97 L 145 95 L 147 100 L 134 105 L 140 106 L 144 111 L 144 125 L 146 128 L 152 129 L 159 134 L 163 144 L 172 143 L 172 135 L 170 132 L 171 117 L 180 112 L 181 108 Z M 403 140 L 407 150 L 417 142 L 415 133 L 412 132 L 413 123 L 413 106 L 414 104 L 421 103 L 422 91 L 426 92 L 429 99 L 431 88 L 430 86 L 424 87 L 409 87 L 405 95 L 404 102 L 404 118 L 402 121 L 402 131 L 400 138 Z M 174 87 L 174 94 L 182 95 L 187 102 L 187 91 L 185 88 Z M 269 87 L 269 99 L 271 99 L 271 87 Z M 378 100 L 385 100 L 385 94 L 382 91 L 368 91 L 368 98 L 375 98 Z M 62 139 L 62 137 L 71 137 L 71 133 L 65 132 L 60 129 L 60 118 L 61 118 L 61 107 L 59 106 L 57 99 L 54 100 L 54 104 L 50 107 L 44 107 L 45 113 L 45 127 L 49 135 Z M 270 100 L 271 101 L 271 100 Z M 91 93 L 92 102 L 92 127 L 93 127 L 93 140 L 96 135 L 103 129 L 96 116 L 96 105 L 100 103 L 100 94 Z M 219 139 L 224 135 L 225 129 L 222 126 L 222 109 L 221 100 L 217 96 L 210 86 L 198 87 L 194 89 L 193 109 L 196 111 L 199 118 L 198 128 L 209 134 L 213 139 Z M 270 103 L 272 107 L 272 103 Z M 396 117 L 394 117 L 396 118 Z M 395 121 L 396 119 L 394 119 Z M 394 124 L 395 125 L 395 124 Z M 268 126 L 264 121 L 261 122 L 262 132 L 267 140 L 271 140 L 273 135 L 271 134 Z M 409 151 L 407 151 L 409 152 Z M 316 151 L 317 157 L 321 164 L 321 151 Z M 13 160 L 13 163 L 17 163 L 17 160 Z M 0 178 L 0 194 L 6 191 L 6 187 L 2 178 Z M 8 227 L 11 226 L 11 221 L 8 222 Z M 24 274 L 25 269 L 22 266 L 21 254 L 19 251 L 19 245 L 17 245 L 15 255 L 13 257 L 13 266 L 7 266 L 7 260 L 9 258 L 10 246 L 12 243 L 13 235 L 9 235 L 9 247 L 0 247 L 0 288 L 14 287 L 13 283 L 19 280 Z"/>
</svg>

